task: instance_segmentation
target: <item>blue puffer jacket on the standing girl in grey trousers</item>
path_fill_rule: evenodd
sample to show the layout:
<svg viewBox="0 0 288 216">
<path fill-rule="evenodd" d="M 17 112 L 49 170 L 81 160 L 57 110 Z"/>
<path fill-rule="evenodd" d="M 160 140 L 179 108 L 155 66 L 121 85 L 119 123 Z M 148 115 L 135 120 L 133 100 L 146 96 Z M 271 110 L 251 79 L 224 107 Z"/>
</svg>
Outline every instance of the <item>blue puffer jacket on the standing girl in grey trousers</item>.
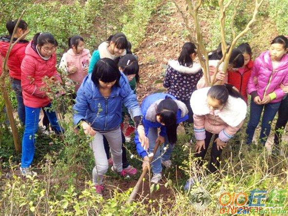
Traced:
<svg viewBox="0 0 288 216">
<path fill-rule="evenodd" d="M 122 102 L 134 118 L 142 116 L 136 95 L 132 91 L 127 77 L 121 73 L 120 87 L 113 86 L 111 95 L 104 98 L 96 84 L 91 80 L 91 74 L 85 77 L 77 91 L 76 104 L 73 109 L 74 124 L 85 119 L 98 131 L 110 131 L 121 123 Z"/>
</svg>

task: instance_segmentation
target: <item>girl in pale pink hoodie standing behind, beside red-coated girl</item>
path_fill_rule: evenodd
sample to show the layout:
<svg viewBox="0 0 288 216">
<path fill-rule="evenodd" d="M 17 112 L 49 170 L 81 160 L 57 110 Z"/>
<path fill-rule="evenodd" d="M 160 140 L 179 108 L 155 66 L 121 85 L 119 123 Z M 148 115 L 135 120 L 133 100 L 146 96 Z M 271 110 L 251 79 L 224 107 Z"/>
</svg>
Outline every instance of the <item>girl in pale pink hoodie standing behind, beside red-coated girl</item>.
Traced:
<svg viewBox="0 0 288 216">
<path fill-rule="evenodd" d="M 68 78 L 75 84 L 75 93 L 77 93 L 83 79 L 88 74 L 91 55 L 90 51 L 85 49 L 84 39 L 79 35 L 68 39 L 68 45 L 70 49 L 63 54 L 59 68 L 67 72 Z"/>
</svg>

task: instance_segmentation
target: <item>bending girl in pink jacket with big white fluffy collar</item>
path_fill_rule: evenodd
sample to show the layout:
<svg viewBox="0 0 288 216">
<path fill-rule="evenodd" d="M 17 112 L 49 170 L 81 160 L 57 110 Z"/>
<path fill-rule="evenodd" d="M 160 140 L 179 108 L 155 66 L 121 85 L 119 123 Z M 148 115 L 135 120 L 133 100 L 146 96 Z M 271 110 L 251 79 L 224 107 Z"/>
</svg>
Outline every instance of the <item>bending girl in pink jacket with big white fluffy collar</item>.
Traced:
<svg viewBox="0 0 288 216">
<path fill-rule="evenodd" d="M 209 171 L 214 173 L 220 166 L 222 149 L 243 124 L 247 112 L 246 102 L 233 86 L 224 84 L 196 90 L 190 103 L 197 140 L 195 157 L 200 158 L 199 166 L 202 166 L 211 138 L 215 135 L 209 164 Z M 194 183 L 195 179 L 188 180 L 184 189 L 188 190 Z"/>
</svg>

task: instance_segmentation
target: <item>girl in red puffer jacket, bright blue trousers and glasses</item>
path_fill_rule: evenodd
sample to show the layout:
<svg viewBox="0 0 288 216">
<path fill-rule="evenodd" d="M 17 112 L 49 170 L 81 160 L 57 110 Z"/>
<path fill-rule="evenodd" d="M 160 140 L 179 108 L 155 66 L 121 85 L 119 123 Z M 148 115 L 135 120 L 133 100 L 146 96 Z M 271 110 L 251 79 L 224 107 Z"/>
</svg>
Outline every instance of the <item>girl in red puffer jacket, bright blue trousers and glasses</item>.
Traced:
<svg viewBox="0 0 288 216">
<path fill-rule="evenodd" d="M 25 131 L 22 139 L 22 157 L 20 171 L 22 175 L 35 175 L 30 170 L 35 153 L 35 134 L 38 130 L 39 113 L 41 108 L 50 107 L 49 91 L 43 78 L 48 77 L 61 82 L 56 70 L 57 41 L 50 33 L 37 33 L 27 45 L 25 57 L 21 64 L 21 86 L 26 111 Z M 60 133 L 56 113 L 45 111 L 54 131 Z"/>
</svg>

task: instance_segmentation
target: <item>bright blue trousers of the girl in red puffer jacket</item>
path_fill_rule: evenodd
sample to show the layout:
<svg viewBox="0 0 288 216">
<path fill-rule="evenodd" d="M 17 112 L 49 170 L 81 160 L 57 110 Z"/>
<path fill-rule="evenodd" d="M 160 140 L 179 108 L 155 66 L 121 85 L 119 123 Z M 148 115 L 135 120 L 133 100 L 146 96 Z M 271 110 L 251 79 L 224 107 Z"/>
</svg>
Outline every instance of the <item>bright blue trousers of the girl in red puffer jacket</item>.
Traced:
<svg viewBox="0 0 288 216">
<path fill-rule="evenodd" d="M 50 107 L 48 104 L 46 107 Z M 27 168 L 31 165 L 34 154 L 35 154 L 35 143 L 36 143 L 36 133 L 38 131 L 39 114 L 41 108 L 31 108 L 25 106 L 26 111 L 26 122 L 25 130 L 22 139 L 22 157 L 21 157 L 21 167 Z M 61 127 L 58 124 L 56 113 L 53 111 L 45 111 L 49 121 L 58 133 L 62 132 Z"/>
</svg>

